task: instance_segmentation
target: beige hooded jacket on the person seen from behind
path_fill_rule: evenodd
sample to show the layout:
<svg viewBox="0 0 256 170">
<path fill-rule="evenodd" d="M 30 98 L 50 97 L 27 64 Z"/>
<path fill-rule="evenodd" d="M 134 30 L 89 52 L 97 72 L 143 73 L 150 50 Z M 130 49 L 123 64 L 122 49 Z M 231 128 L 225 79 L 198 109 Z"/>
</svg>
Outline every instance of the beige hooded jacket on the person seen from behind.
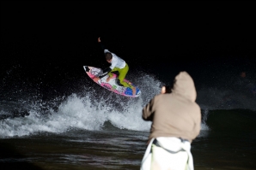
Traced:
<svg viewBox="0 0 256 170">
<path fill-rule="evenodd" d="M 143 108 L 143 120 L 151 120 L 149 140 L 158 137 L 183 138 L 192 143 L 200 132 L 201 110 L 192 77 L 180 72 L 171 93 L 153 97 Z"/>
</svg>

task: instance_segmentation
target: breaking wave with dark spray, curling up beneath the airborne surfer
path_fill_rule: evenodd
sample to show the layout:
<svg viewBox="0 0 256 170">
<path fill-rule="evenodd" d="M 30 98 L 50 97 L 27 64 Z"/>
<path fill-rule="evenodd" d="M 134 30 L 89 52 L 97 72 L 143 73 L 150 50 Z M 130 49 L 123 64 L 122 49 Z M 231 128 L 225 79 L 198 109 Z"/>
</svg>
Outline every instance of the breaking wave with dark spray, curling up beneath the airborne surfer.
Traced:
<svg viewBox="0 0 256 170">
<path fill-rule="evenodd" d="M 151 123 L 142 119 L 143 106 L 160 92 L 162 83 L 154 76 L 138 73 L 131 79 L 144 92 L 140 97 L 119 96 L 83 79 L 66 83 L 64 93 L 44 93 L 40 84 L 21 83 L 6 87 L 0 101 L 0 137 L 25 136 L 38 132 L 61 133 L 70 129 L 101 131 L 108 122 L 115 128 L 149 132 Z M 129 78 L 129 77 L 128 77 Z M 147 84 L 145 83 L 147 82 Z M 55 92 L 56 91 L 56 92 Z M 55 93 L 54 93 L 55 92 Z M 47 97 L 45 97 L 47 95 Z"/>
</svg>

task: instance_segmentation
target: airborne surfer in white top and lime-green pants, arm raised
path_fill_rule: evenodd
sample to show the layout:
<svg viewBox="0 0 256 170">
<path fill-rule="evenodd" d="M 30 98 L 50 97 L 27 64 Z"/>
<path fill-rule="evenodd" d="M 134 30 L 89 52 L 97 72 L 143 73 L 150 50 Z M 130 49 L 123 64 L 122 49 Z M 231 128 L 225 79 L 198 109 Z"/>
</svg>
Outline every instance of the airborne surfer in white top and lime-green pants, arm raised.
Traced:
<svg viewBox="0 0 256 170">
<path fill-rule="evenodd" d="M 108 82 L 113 77 L 112 72 L 119 72 L 117 84 L 125 87 L 130 87 L 132 90 L 132 95 L 135 95 L 136 88 L 124 81 L 125 76 L 129 71 L 129 66 L 127 65 L 127 63 L 122 58 L 114 54 L 113 52 L 110 52 L 109 50 L 107 50 L 105 48 L 105 45 L 101 43 L 101 38 L 98 38 L 98 43 L 101 44 L 101 48 L 102 50 L 104 50 L 106 60 L 108 63 L 111 64 L 111 66 L 107 67 L 106 69 L 103 69 L 103 73 L 100 73 L 97 76 L 97 78 L 94 78 L 94 81 L 97 81 L 98 79 L 101 79 L 106 75 L 109 75 L 109 77 L 107 78 L 107 82 Z"/>
</svg>

